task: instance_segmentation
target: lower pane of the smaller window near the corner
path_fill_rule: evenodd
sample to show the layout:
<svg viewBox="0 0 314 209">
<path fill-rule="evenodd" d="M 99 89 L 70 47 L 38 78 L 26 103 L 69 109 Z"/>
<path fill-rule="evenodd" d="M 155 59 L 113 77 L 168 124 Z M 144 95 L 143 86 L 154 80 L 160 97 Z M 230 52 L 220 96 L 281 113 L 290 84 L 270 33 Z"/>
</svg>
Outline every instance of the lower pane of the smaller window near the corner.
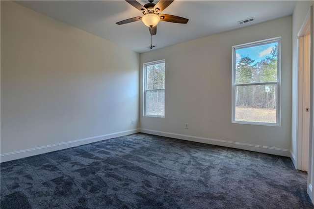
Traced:
<svg viewBox="0 0 314 209">
<path fill-rule="evenodd" d="M 165 91 L 152 90 L 146 92 L 146 114 L 165 115 Z"/>
</svg>

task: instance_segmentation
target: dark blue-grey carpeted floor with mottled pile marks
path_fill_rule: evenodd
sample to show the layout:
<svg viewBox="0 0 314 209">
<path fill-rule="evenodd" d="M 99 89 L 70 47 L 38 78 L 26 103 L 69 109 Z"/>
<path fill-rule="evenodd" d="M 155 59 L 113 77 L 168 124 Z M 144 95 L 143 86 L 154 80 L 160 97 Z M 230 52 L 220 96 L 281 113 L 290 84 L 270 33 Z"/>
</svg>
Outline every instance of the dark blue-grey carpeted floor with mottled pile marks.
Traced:
<svg viewBox="0 0 314 209">
<path fill-rule="evenodd" d="M 3 209 L 314 209 L 288 157 L 143 133 L 1 163 Z"/>
</svg>

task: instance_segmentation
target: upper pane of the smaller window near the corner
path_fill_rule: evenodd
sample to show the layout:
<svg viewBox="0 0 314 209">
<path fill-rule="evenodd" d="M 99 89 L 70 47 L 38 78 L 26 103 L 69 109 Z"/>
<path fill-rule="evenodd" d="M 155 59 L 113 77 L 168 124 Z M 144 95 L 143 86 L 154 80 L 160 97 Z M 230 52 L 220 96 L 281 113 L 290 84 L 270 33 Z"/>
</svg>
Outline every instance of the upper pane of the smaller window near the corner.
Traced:
<svg viewBox="0 0 314 209">
<path fill-rule="evenodd" d="M 165 88 L 165 63 L 146 66 L 146 89 Z"/>
</svg>

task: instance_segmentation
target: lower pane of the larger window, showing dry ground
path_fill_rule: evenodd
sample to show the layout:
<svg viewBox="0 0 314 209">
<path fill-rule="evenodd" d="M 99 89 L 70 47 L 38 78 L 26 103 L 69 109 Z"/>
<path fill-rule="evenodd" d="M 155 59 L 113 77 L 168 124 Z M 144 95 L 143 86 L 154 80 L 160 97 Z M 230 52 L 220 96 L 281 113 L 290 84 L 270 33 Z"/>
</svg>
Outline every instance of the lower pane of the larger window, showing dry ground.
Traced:
<svg viewBox="0 0 314 209">
<path fill-rule="evenodd" d="M 276 123 L 277 85 L 235 87 L 235 120 Z"/>
</svg>

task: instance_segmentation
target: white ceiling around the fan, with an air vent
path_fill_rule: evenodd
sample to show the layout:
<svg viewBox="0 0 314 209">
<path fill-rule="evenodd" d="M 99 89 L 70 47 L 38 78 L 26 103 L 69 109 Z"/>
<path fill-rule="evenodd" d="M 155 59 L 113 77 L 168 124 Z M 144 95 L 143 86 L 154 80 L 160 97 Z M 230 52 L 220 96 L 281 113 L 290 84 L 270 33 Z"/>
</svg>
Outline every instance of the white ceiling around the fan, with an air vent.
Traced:
<svg viewBox="0 0 314 209">
<path fill-rule="evenodd" d="M 138 0 L 141 4 L 147 0 Z M 15 1 L 56 20 L 78 27 L 134 52 L 150 51 L 150 33 L 141 21 L 115 23 L 142 13 L 124 0 L 23 0 Z M 162 47 L 291 15 L 294 0 L 175 0 L 163 14 L 189 19 L 187 24 L 160 21 L 153 45 Z M 157 3 L 157 0 L 154 1 Z M 255 20 L 238 25 L 238 21 Z"/>
</svg>

